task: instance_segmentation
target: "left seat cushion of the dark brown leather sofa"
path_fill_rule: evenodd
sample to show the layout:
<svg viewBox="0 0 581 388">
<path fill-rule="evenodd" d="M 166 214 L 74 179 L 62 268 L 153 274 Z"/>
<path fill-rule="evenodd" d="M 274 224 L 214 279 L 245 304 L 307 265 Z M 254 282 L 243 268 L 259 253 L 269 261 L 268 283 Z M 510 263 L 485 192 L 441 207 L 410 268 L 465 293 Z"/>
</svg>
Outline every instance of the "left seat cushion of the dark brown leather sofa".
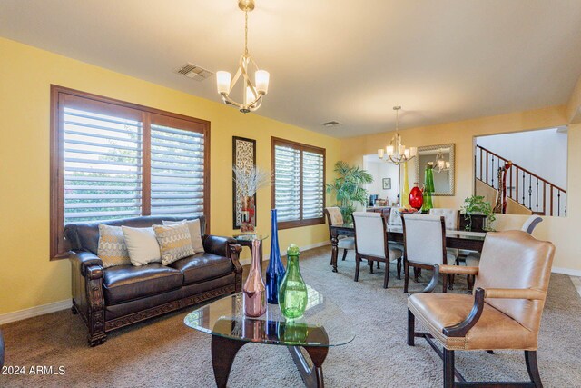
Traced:
<svg viewBox="0 0 581 388">
<path fill-rule="evenodd" d="M 119 265 L 104 270 L 103 291 L 105 302 L 115 304 L 164 293 L 182 284 L 180 271 L 159 263 L 139 267 Z"/>
</svg>

